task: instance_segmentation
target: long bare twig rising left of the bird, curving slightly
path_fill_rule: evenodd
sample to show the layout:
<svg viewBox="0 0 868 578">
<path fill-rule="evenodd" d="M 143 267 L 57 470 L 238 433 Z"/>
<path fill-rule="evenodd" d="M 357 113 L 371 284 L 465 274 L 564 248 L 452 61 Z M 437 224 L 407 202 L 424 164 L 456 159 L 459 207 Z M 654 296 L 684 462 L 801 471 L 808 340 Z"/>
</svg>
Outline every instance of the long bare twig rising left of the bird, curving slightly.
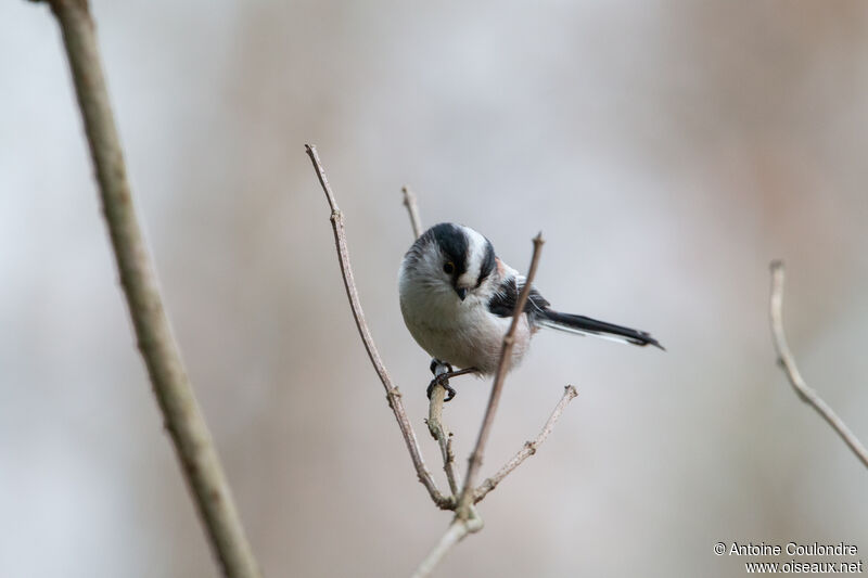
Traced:
<svg viewBox="0 0 868 578">
<path fill-rule="evenodd" d="M 356 320 L 356 326 L 359 330 L 361 341 L 365 343 L 365 349 L 368 351 L 368 357 L 373 364 L 373 369 L 376 371 L 376 374 L 380 376 L 380 381 L 383 383 L 383 387 L 386 389 L 386 399 L 388 400 L 388 406 L 392 408 L 392 412 L 395 414 L 395 419 L 398 422 L 398 427 L 400 427 L 404 441 L 407 444 L 407 449 L 409 450 L 410 458 L 413 461 L 413 466 L 416 467 L 416 473 L 419 476 L 419 481 L 421 481 L 425 489 L 427 489 L 427 492 L 431 494 L 431 499 L 434 500 L 434 503 L 437 504 L 438 508 L 443 510 L 451 510 L 455 508 L 455 501 L 441 493 L 436 484 L 434 483 L 434 478 L 431 476 L 431 472 L 427 471 L 424 459 L 422 458 L 422 452 L 419 449 L 416 432 L 413 432 L 413 426 L 410 423 L 410 420 L 407 418 L 407 411 L 404 409 L 400 391 L 398 391 L 398 388 L 392 383 L 392 378 L 388 376 L 388 372 L 386 371 L 382 359 L 380 359 L 380 354 L 376 350 L 376 346 L 373 343 L 373 337 L 371 337 L 371 332 L 368 329 L 367 322 L 365 321 L 365 313 L 361 310 L 358 290 L 356 290 L 356 282 L 353 278 L 353 268 L 349 265 L 349 249 L 347 248 L 346 233 L 344 232 L 344 216 L 341 213 L 341 209 L 337 208 L 337 202 L 335 201 L 332 189 L 329 185 L 329 180 L 326 178 L 326 170 L 322 168 L 322 163 L 320 163 L 317 149 L 314 145 L 305 144 L 305 150 L 307 151 L 307 155 L 310 157 L 310 162 L 314 163 L 314 170 L 317 171 L 319 183 L 322 185 L 322 191 L 326 193 L 326 198 L 328 200 L 329 207 L 332 211 L 331 221 L 332 229 L 334 230 L 334 243 L 337 247 L 337 260 L 341 264 L 341 273 L 344 278 L 346 295 L 349 298 L 349 307 L 353 309 L 353 317 Z"/>
</svg>

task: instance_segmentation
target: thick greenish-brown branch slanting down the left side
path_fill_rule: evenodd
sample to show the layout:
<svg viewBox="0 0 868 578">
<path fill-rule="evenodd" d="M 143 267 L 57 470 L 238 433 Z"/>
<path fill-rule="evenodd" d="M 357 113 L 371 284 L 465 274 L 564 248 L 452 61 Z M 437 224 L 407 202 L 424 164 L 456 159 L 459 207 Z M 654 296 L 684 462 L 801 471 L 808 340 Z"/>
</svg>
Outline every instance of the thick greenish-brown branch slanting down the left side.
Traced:
<svg viewBox="0 0 868 578">
<path fill-rule="evenodd" d="M 63 34 L 97 171 L 120 285 L 166 428 L 226 576 L 259 576 L 210 433 L 171 334 L 132 195 L 103 78 L 87 0 L 49 2 Z"/>
</svg>

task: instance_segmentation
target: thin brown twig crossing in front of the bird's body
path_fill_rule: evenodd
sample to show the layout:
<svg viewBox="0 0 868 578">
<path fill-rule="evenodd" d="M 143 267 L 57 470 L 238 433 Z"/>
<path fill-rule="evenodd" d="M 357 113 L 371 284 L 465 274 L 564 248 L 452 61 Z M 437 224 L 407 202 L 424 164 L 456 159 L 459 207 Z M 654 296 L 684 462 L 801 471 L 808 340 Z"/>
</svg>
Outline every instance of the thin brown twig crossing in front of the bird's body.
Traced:
<svg viewBox="0 0 868 578">
<path fill-rule="evenodd" d="M 536 267 L 539 262 L 539 253 L 542 249 L 542 233 L 539 233 L 534 237 L 534 255 L 531 258 L 531 268 L 527 271 L 527 278 L 525 279 L 522 292 L 519 294 L 519 300 L 515 303 L 515 310 L 512 312 L 512 323 L 509 326 L 509 331 L 507 331 L 507 334 L 503 336 L 503 347 L 500 350 L 500 362 L 497 365 L 497 373 L 495 374 L 494 385 L 492 386 L 492 394 L 488 397 L 488 407 L 485 409 L 485 418 L 483 419 L 482 427 L 480 428 L 480 436 L 476 438 L 476 446 L 473 448 L 473 453 L 470 454 L 468 473 L 464 476 L 464 486 L 461 490 L 461 498 L 458 501 L 457 515 L 463 521 L 469 519 L 470 516 L 470 509 L 471 504 L 473 503 L 474 496 L 473 483 L 476 478 L 476 473 L 480 470 L 480 465 L 482 464 L 485 444 L 488 440 L 488 434 L 490 433 L 492 424 L 494 423 L 495 412 L 497 411 L 497 404 L 500 400 L 500 391 L 503 389 L 503 380 L 507 376 L 509 364 L 512 361 L 512 347 L 515 342 L 515 330 L 518 329 L 520 319 L 524 313 L 524 305 L 527 303 L 527 297 L 531 294 L 531 287 L 534 283 L 534 277 L 536 275 Z"/>
</svg>

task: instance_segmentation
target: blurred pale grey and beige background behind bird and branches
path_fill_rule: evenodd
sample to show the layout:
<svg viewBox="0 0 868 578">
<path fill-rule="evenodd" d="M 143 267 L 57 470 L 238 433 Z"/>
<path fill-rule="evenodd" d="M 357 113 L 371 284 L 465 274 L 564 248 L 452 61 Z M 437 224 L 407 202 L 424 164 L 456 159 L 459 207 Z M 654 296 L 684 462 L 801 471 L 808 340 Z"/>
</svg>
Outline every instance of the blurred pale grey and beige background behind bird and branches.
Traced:
<svg viewBox="0 0 868 578">
<path fill-rule="evenodd" d="M 483 231 L 556 306 L 668 351 L 538 335 L 483 473 L 549 441 L 438 576 L 741 576 L 717 541 L 856 543 L 866 472 L 775 365 L 768 261 L 806 378 L 868 438 L 864 2 L 107 2 L 93 11 L 140 216 L 268 576 L 406 576 L 446 528 L 430 374 L 397 306 L 426 224 Z M 127 319 L 58 27 L 0 8 L 0 575 L 214 576 Z M 457 382 L 458 463 L 488 382 Z M 441 479 L 441 477 L 438 477 Z"/>
</svg>

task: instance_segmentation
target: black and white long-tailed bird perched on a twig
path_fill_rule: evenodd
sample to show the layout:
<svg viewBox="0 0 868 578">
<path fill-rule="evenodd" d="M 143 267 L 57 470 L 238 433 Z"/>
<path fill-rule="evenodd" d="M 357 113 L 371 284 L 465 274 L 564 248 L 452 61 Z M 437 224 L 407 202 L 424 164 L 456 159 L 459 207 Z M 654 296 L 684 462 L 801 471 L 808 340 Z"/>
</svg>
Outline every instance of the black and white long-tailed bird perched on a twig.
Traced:
<svg viewBox="0 0 868 578">
<path fill-rule="evenodd" d="M 432 357 L 435 377 L 427 387 L 429 398 L 439 384 L 447 390 L 446 401 L 452 399 L 450 377 L 497 371 L 503 336 L 525 282 L 497 256 L 488 239 L 463 224 L 435 224 L 410 246 L 398 271 L 398 295 L 407 329 Z M 531 337 L 542 327 L 665 350 L 648 332 L 557 311 L 532 286 L 508 370 L 519 364 Z M 438 367 L 447 371 L 438 372 Z"/>
</svg>

